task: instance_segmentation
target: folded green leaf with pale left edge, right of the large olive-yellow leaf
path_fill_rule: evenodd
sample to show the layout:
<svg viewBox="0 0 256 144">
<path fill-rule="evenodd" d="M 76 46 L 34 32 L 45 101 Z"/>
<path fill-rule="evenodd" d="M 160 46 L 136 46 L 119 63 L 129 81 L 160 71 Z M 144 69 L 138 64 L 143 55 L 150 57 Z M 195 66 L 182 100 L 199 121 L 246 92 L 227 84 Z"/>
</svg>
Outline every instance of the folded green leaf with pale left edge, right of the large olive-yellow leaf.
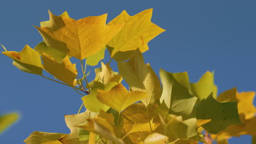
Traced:
<svg viewBox="0 0 256 144">
<path fill-rule="evenodd" d="M 169 73 L 160 69 L 162 95 L 160 102 L 165 101 L 170 114 L 187 118 L 194 109 L 197 98 L 189 94 L 189 77 L 187 72 Z"/>
</svg>

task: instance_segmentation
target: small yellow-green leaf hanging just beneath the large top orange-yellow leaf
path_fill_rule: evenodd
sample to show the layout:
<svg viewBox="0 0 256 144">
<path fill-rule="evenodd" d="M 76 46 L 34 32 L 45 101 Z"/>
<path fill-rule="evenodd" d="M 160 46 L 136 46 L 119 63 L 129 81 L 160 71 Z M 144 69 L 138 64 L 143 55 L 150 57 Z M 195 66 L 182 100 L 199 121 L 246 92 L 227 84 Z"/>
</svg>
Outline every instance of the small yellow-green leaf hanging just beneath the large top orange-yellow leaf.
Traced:
<svg viewBox="0 0 256 144">
<path fill-rule="evenodd" d="M 101 59 L 104 58 L 105 50 L 107 49 L 106 46 L 104 46 L 99 52 L 97 52 L 95 55 L 89 56 L 87 58 L 87 64 L 91 66 L 95 66 L 98 64 L 98 62 L 101 61 Z"/>
</svg>

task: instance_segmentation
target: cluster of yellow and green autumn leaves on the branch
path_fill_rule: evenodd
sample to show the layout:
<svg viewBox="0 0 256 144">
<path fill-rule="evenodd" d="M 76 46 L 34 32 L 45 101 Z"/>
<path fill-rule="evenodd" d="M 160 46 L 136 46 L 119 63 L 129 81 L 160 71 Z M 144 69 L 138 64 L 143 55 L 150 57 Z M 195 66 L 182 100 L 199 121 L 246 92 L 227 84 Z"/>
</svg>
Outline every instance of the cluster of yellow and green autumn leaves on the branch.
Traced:
<svg viewBox="0 0 256 144">
<path fill-rule="evenodd" d="M 36 27 L 43 41 L 34 49 L 26 45 L 15 52 L 3 47 L 15 67 L 72 87 L 83 95 L 81 108 L 86 107 L 65 116 L 69 134 L 34 131 L 25 143 L 220 144 L 232 136 L 256 136 L 254 92 L 232 88 L 217 95 L 210 71 L 190 83 L 187 72 L 160 69 L 159 79 L 144 63 L 148 42 L 165 31 L 151 22 L 152 10 L 134 16 L 123 11 L 107 25 L 107 14 L 74 20 L 67 12 L 56 16 L 49 11 L 49 21 Z M 100 63 L 106 49 L 109 62 L 101 62 L 95 79 L 88 81 L 87 65 Z M 80 73 L 71 57 L 79 60 Z M 119 73 L 109 66 L 114 60 Z M 124 80 L 128 88 L 122 85 Z"/>
</svg>

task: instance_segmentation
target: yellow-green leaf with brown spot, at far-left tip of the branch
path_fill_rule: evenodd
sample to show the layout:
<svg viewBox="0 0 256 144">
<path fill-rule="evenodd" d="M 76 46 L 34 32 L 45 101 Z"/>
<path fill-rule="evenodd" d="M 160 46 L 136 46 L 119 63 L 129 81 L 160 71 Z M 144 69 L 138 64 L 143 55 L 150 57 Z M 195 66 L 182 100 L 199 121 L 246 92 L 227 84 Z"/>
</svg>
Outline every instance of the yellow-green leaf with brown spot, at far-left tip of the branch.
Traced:
<svg viewBox="0 0 256 144">
<path fill-rule="evenodd" d="M 13 59 L 13 65 L 26 73 L 42 75 L 43 67 L 39 54 L 25 45 L 21 52 L 4 51 L 4 55 Z"/>
</svg>

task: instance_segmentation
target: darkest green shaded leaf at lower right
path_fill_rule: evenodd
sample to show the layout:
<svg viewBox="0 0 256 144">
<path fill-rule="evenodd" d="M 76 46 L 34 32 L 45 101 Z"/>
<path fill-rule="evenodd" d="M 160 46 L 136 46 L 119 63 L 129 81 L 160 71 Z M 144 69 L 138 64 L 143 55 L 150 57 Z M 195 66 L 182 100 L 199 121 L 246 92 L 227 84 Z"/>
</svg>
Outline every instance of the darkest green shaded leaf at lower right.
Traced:
<svg viewBox="0 0 256 144">
<path fill-rule="evenodd" d="M 211 134 L 217 134 L 229 125 L 241 124 L 238 116 L 237 103 L 219 103 L 212 93 L 196 107 L 197 119 L 212 119 L 202 127 Z"/>
</svg>

